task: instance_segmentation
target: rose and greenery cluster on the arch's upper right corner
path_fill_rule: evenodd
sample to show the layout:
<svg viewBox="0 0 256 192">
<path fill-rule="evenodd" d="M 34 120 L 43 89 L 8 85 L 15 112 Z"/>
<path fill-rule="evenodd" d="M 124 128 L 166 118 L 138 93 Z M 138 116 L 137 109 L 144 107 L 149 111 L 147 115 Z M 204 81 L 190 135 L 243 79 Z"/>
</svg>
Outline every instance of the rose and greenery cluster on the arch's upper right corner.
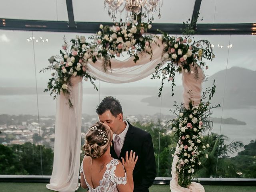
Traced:
<svg viewBox="0 0 256 192">
<path fill-rule="evenodd" d="M 156 36 L 164 44 L 162 61 L 156 66 L 155 74 L 151 78 L 161 78 L 162 80 L 158 97 L 161 96 L 164 80 L 166 79 L 168 82 L 172 82 L 172 96 L 174 95 L 175 72 L 195 73 L 196 78 L 198 66 L 205 66 L 208 69 L 208 66 L 206 66 L 202 59 L 212 61 L 215 58 L 215 55 L 212 53 L 212 46 L 208 40 L 192 41 L 190 36 L 175 37 L 169 36 L 165 32 L 162 32 L 162 34 L 161 36 Z M 164 64 L 166 66 L 163 67 Z M 195 69 L 195 72 L 191 70 L 192 68 Z"/>
</svg>

